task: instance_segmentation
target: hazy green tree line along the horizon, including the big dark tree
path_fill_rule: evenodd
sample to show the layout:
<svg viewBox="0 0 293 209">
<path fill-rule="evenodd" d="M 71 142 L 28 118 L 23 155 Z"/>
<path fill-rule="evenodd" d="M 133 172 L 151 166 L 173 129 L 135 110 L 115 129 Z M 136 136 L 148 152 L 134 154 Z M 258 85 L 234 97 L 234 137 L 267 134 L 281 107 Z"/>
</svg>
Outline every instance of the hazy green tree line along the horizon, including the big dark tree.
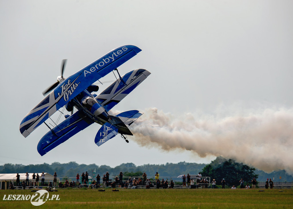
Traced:
<svg viewBox="0 0 293 209">
<path fill-rule="evenodd" d="M 82 172 L 88 172 L 90 176 L 93 174 L 103 176 L 107 171 L 110 176 L 117 176 L 122 171 L 124 176 L 141 176 L 143 172 L 147 173 L 147 176 L 152 177 L 156 172 L 159 172 L 160 177 L 177 177 L 181 174 L 198 174 L 202 173 L 202 176 L 209 176 L 211 179 L 216 179 L 219 185 L 220 181 L 224 178 L 230 183 L 239 182 L 242 178 L 244 181 L 248 181 L 253 177 L 257 177 L 257 181 L 266 181 L 267 178 L 275 177 L 275 181 L 279 181 L 279 177 L 282 177 L 282 181 L 293 181 L 293 176 L 287 174 L 284 170 L 275 171 L 267 174 L 261 170 L 251 168 L 242 163 L 237 163 L 234 160 L 226 160 L 223 157 L 217 157 L 209 164 L 204 163 L 166 163 L 166 164 L 144 164 L 136 166 L 133 163 L 122 163 L 114 168 L 108 165 L 96 165 L 96 164 L 78 164 L 76 162 L 59 163 L 53 162 L 51 165 L 47 163 L 43 164 L 4 164 L 0 165 L 0 173 L 33 173 L 33 172 L 47 172 L 54 174 L 57 172 L 58 177 L 75 177 L 77 173 L 80 175 Z M 231 179 L 231 180 L 229 180 Z M 251 181 L 251 180 L 250 180 Z M 236 184 L 238 185 L 238 184 Z"/>
</svg>

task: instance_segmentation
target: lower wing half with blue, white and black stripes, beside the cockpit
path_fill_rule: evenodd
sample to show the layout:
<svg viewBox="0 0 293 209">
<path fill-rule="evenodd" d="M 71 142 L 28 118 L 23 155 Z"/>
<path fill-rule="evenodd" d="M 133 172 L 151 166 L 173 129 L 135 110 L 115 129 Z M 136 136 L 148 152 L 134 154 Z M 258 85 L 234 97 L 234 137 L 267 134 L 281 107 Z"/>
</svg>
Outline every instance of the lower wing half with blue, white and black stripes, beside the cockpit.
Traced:
<svg viewBox="0 0 293 209">
<path fill-rule="evenodd" d="M 124 97 L 126 97 L 134 88 L 136 88 L 151 73 L 144 69 L 137 69 L 122 76 L 123 82 L 118 79 L 107 89 L 96 96 L 98 102 L 104 106 L 106 111 L 112 109 Z"/>
</svg>

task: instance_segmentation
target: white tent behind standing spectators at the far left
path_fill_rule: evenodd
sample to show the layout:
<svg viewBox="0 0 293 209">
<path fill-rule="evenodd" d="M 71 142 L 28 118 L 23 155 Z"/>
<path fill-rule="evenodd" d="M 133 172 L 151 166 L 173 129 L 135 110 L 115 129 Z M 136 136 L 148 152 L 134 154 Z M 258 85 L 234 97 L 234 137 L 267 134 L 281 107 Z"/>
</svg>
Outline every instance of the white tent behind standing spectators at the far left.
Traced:
<svg viewBox="0 0 293 209">
<path fill-rule="evenodd" d="M 41 174 L 42 172 L 38 172 L 38 173 L 35 173 L 35 175 L 39 174 L 40 176 L 40 179 L 39 181 L 41 181 Z M 53 181 L 54 180 L 54 176 L 49 174 L 49 173 L 45 173 L 45 181 Z M 0 174 L 0 189 L 2 189 L 2 181 L 5 181 L 5 185 L 7 184 L 6 182 L 8 181 L 16 181 L 16 175 L 17 173 L 14 173 L 14 174 Z M 19 180 L 20 181 L 25 181 L 26 180 L 26 173 L 19 173 L 20 177 L 19 177 Z M 33 173 L 28 173 L 28 179 L 29 181 L 32 181 L 33 179 Z M 60 181 L 59 178 L 57 178 L 57 181 Z M 6 186 L 5 186 L 6 188 Z"/>
</svg>

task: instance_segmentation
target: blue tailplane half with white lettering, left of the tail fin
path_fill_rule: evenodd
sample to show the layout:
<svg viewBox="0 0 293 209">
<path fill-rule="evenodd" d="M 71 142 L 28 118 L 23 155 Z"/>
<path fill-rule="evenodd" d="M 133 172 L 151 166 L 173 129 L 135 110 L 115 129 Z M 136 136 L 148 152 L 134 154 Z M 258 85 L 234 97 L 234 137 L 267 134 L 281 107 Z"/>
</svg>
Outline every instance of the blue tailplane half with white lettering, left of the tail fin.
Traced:
<svg viewBox="0 0 293 209">
<path fill-rule="evenodd" d="M 113 138 L 118 134 L 118 128 L 114 125 L 111 125 L 109 123 L 105 123 L 98 131 L 95 143 L 96 145 L 100 146 L 109 139 Z"/>
</svg>

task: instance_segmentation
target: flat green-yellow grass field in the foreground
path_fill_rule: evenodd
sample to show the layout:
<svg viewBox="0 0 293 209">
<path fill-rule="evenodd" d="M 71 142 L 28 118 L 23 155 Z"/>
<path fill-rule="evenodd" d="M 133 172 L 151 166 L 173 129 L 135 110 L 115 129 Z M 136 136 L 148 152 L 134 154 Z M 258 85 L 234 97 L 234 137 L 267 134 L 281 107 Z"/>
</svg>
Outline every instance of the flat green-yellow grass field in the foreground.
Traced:
<svg viewBox="0 0 293 209">
<path fill-rule="evenodd" d="M 293 208 L 293 189 L 59 189 L 59 201 L 40 208 Z M 1 190 L 0 208 L 33 208 L 30 201 L 4 201 L 6 194 L 32 195 L 30 190 Z"/>
</svg>

